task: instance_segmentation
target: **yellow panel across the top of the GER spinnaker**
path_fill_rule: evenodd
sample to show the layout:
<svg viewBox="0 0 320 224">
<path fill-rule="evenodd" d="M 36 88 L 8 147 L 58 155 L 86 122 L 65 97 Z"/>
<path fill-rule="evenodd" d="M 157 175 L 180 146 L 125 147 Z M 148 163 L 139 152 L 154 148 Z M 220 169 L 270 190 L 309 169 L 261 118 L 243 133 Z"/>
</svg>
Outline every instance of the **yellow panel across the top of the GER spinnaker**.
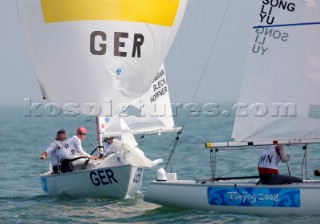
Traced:
<svg viewBox="0 0 320 224">
<path fill-rule="evenodd" d="M 41 0 L 45 23 L 115 20 L 171 27 L 180 0 Z"/>
</svg>

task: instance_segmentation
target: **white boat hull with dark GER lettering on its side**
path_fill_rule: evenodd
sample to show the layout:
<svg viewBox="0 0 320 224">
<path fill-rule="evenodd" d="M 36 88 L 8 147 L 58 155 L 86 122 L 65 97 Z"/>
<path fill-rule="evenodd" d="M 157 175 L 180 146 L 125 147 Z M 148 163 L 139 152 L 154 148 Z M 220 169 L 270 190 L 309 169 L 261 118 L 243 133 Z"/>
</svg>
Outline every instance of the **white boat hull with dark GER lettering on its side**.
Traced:
<svg viewBox="0 0 320 224">
<path fill-rule="evenodd" d="M 128 198 L 136 194 L 142 184 L 143 169 L 111 160 L 112 157 L 90 161 L 85 170 L 42 174 L 42 188 L 50 195 L 66 194 L 77 198 Z"/>
</svg>

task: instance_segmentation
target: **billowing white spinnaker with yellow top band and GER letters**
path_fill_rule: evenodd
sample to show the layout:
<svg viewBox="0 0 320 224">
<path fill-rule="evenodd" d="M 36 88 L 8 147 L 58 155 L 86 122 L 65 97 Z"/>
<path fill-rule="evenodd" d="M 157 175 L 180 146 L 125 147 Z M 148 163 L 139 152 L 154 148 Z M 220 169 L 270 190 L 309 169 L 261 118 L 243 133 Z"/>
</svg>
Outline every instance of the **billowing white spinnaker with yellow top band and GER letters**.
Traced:
<svg viewBox="0 0 320 224">
<path fill-rule="evenodd" d="M 64 12 L 58 3 L 72 6 L 71 11 Z M 116 19 L 95 19 L 96 14 L 82 19 L 100 10 L 96 3 Z M 47 7 L 48 13 L 45 4 L 58 9 Z M 105 103 L 110 100 L 118 105 L 141 97 L 164 61 L 186 4 L 187 0 L 17 0 L 43 96 L 62 109 L 77 108 L 88 115 L 109 114 Z M 172 23 L 162 24 L 170 16 Z M 153 23 L 153 17 L 160 25 Z"/>
</svg>

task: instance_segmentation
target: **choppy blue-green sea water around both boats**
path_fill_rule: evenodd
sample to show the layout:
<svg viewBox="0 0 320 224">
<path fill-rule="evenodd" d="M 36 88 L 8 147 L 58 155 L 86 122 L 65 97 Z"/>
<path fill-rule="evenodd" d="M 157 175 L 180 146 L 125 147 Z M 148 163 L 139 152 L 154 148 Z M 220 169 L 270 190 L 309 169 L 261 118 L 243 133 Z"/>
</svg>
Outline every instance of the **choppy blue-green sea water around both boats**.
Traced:
<svg viewBox="0 0 320 224">
<path fill-rule="evenodd" d="M 29 111 L 30 112 L 30 111 Z M 190 115 L 190 114 L 187 114 Z M 177 114 L 176 124 L 183 125 L 179 144 L 169 171 L 177 172 L 178 179 L 208 179 L 211 177 L 210 151 L 206 141 L 225 141 L 231 136 L 233 116 L 205 116 Z M 162 207 L 143 201 L 156 170 L 145 169 L 141 192 L 131 199 L 70 198 L 48 196 L 41 188 L 40 173 L 46 171 L 50 159 L 40 160 L 41 153 L 54 140 L 58 129 L 64 128 L 68 137 L 79 125 L 88 130 L 83 141 L 87 152 L 95 148 L 95 120 L 79 116 L 40 116 L 18 106 L 0 107 L 0 223 L 319 223 L 319 216 L 268 217 L 214 211 L 182 210 Z M 139 147 L 151 159 L 169 157 L 175 134 L 137 136 Z M 310 147 L 308 175 L 320 168 L 316 147 Z M 304 151 L 288 148 L 291 155 L 290 171 L 301 176 Z M 259 150 L 219 151 L 217 175 L 257 175 Z M 280 172 L 288 168 L 280 164 Z M 81 187 L 81 186 L 80 186 Z M 192 193 L 192 192 L 191 192 Z M 319 204 L 320 206 L 320 204 Z"/>
</svg>

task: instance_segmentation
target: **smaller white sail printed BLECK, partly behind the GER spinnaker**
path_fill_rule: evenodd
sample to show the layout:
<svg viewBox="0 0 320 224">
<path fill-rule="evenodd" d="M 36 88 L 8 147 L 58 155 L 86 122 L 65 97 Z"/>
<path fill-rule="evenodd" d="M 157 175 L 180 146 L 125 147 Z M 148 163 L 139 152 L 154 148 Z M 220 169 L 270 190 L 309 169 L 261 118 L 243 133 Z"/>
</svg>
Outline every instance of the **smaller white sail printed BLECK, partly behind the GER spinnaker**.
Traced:
<svg viewBox="0 0 320 224">
<path fill-rule="evenodd" d="M 124 111 L 123 111 L 124 110 Z M 135 134 L 176 131 L 164 64 L 161 65 L 149 91 L 142 97 L 114 108 L 113 116 L 99 117 L 99 132 L 105 136 L 120 136 L 119 113 Z"/>
</svg>

